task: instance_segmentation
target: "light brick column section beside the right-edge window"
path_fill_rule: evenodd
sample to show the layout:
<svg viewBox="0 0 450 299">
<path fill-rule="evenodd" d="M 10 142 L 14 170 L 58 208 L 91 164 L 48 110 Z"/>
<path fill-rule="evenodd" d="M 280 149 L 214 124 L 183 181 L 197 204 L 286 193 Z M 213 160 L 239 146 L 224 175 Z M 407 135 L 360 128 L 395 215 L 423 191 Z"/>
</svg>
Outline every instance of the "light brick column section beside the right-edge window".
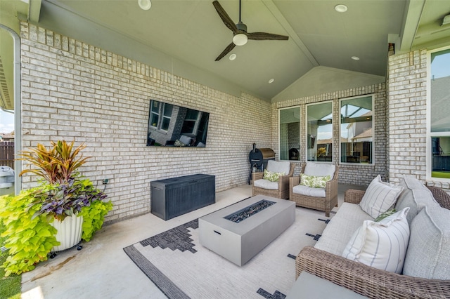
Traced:
<svg viewBox="0 0 450 299">
<path fill-rule="evenodd" d="M 390 56 L 388 72 L 391 182 L 403 175 L 425 182 L 427 51 Z"/>
</svg>

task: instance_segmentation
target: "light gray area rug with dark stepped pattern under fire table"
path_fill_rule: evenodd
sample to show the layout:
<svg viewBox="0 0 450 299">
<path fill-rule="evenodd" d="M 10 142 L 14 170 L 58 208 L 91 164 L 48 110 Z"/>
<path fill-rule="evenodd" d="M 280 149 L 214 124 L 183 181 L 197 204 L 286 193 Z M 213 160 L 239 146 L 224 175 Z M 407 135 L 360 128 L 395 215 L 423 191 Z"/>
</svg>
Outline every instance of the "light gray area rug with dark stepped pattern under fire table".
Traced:
<svg viewBox="0 0 450 299">
<path fill-rule="evenodd" d="M 124 251 L 167 298 L 283 299 L 295 282 L 297 253 L 316 243 L 328 220 L 295 208 L 294 224 L 242 267 L 200 245 L 198 219 Z"/>
</svg>

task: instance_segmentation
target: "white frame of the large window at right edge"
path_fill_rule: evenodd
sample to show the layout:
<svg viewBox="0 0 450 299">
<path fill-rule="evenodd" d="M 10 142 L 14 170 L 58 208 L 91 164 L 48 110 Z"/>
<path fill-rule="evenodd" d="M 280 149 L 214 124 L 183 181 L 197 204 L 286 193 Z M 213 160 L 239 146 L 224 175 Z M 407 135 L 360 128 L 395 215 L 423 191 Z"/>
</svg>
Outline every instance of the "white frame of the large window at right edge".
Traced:
<svg viewBox="0 0 450 299">
<path fill-rule="evenodd" d="M 431 55 L 441 51 L 450 50 L 450 46 L 436 48 L 427 52 L 427 107 L 426 107 L 426 140 L 425 140 L 425 180 L 434 180 L 437 182 L 450 182 L 449 178 L 432 177 L 432 138 L 450 137 L 450 131 L 432 132 L 431 131 Z M 449 88 L 450 89 L 450 88 Z"/>
</svg>

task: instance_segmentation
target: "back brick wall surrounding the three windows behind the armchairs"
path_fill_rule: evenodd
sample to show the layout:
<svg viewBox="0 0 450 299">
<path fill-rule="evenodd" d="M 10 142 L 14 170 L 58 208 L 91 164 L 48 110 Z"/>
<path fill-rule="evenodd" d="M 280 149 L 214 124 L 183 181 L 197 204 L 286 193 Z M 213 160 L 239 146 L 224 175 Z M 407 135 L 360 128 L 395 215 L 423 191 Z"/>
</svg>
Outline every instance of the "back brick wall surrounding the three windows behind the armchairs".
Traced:
<svg viewBox="0 0 450 299">
<path fill-rule="evenodd" d="M 333 163 L 339 162 L 339 119 L 340 119 L 340 99 L 350 98 L 359 95 L 374 95 L 374 161 L 373 165 L 367 164 L 340 164 L 339 182 L 347 185 L 365 185 L 367 186 L 376 175 L 380 174 L 383 180 L 389 180 L 387 173 L 387 97 L 386 85 L 375 84 L 360 88 L 350 88 L 345 91 L 336 91 L 333 93 L 323 93 L 304 98 L 295 98 L 282 102 L 274 102 L 271 106 L 271 135 L 272 144 L 278 159 L 278 109 L 300 105 L 300 161 L 295 168 L 294 175 L 300 173 L 301 161 L 306 161 L 307 132 L 306 132 L 306 105 L 323 101 L 333 101 Z"/>
</svg>

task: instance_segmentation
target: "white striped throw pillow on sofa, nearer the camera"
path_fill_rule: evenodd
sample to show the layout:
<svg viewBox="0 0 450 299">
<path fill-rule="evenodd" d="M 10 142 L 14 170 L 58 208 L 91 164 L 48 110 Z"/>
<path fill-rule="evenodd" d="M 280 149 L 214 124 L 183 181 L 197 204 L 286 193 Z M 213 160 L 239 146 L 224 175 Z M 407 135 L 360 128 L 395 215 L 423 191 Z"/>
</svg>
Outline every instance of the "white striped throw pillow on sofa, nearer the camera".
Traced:
<svg viewBox="0 0 450 299">
<path fill-rule="evenodd" d="M 342 256 L 376 269 L 400 274 L 409 242 L 408 211 L 409 208 L 404 208 L 380 222 L 365 220 L 354 232 Z"/>
</svg>

